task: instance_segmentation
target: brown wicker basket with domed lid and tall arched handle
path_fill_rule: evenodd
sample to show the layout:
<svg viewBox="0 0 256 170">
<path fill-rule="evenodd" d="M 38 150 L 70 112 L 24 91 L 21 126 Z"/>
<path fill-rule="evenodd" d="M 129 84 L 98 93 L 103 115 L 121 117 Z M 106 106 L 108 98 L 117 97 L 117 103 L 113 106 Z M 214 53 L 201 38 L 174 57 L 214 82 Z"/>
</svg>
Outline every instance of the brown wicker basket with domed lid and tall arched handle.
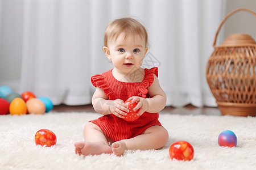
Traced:
<svg viewBox="0 0 256 170">
<path fill-rule="evenodd" d="M 256 42 L 249 35 L 235 33 L 216 45 L 218 32 L 239 8 L 226 15 L 214 37 L 214 52 L 207 64 L 207 82 L 221 113 L 232 116 L 256 116 Z"/>
</svg>

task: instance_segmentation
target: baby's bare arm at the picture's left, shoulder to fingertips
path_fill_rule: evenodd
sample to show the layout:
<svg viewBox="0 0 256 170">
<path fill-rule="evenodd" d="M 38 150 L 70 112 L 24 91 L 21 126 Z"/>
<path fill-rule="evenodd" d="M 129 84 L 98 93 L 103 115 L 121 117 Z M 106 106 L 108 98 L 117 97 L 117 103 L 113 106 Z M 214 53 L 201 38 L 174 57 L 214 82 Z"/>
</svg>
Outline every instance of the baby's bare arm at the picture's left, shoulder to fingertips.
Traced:
<svg viewBox="0 0 256 170">
<path fill-rule="evenodd" d="M 108 100 L 109 97 L 106 96 L 104 91 L 101 88 L 96 88 L 96 91 L 92 97 L 92 105 L 96 112 L 106 115 L 114 114 L 117 117 L 124 118 L 129 112 L 128 106 L 123 103 L 123 100 Z M 125 112 L 126 111 L 126 112 Z"/>
</svg>

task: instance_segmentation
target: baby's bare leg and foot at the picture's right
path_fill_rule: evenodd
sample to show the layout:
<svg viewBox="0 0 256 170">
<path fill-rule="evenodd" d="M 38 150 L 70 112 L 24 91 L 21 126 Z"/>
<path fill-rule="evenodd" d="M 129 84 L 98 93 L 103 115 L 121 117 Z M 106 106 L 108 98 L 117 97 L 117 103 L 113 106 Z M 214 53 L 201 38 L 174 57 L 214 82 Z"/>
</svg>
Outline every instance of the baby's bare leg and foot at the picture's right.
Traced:
<svg viewBox="0 0 256 170">
<path fill-rule="evenodd" d="M 120 156 L 125 150 L 159 149 L 166 145 L 169 135 L 162 126 L 151 126 L 143 134 L 131 139 L 124 139 L 112 144 L 112 151 Z"/>
</svg>

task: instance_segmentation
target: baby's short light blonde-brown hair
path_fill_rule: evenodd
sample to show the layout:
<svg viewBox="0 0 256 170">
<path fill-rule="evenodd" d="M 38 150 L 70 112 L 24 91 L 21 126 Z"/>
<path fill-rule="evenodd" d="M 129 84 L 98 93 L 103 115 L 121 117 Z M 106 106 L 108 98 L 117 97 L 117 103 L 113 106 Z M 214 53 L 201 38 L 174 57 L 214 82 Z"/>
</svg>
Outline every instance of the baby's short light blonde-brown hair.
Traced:
<svg viewBox="0 0 256 170">
<path fill-rule="evenodd" d="M 124 39 L 126 39 L 128 35 L 139 35 L 142 40 L 145 40 L 145 45 L 147 46 L 148 37 L 146 28 L 138 22 L 138 20 L 133 18 L 120 18 L 113 20 L 113 22 L 111 22 L 106 28 L 104 46 L 108 46 L 108 41 L 110 40 L 117 40 L 121 33 L 125 33 Z"/>
</svg>

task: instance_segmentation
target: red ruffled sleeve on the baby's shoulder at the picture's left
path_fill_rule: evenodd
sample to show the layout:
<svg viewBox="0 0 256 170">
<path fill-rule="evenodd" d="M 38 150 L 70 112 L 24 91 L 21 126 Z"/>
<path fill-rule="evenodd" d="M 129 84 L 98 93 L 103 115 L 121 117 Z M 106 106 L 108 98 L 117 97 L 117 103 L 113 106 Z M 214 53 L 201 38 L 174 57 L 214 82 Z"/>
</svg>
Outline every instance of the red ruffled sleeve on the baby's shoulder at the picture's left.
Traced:
<svg viewBox="0 0 256 170">
<path fill-rule="evenodd" d="M 90 78 L 90 80 L 94 87 L 101 88 L 108 97 L 111 97 L 113 95 L 113 92 L 109 87 L 109 84 L 106 82 L 106 79 L 102 74 L 93 75 Z"/>
</svg>

